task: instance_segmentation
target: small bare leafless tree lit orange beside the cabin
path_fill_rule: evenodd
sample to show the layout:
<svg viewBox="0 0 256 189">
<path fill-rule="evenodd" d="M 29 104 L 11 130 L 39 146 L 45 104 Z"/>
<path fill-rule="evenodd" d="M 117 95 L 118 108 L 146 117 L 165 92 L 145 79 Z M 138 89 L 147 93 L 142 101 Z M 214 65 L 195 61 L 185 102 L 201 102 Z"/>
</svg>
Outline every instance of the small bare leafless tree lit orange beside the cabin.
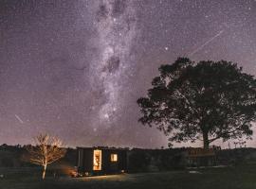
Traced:
<svg viewBox="0 0 256 189">
<path fill-rule="evenodd" d="M 29 163 L 43 166 L 42 179 L 46 178 L 47 164 L 54 163 L 63 158 L 66 152 L 63 142 L 49 134 L 39 134 L 34 138 L 35 146 L 26 146 L 27 156 L 25 159 Z"/>
</svg>

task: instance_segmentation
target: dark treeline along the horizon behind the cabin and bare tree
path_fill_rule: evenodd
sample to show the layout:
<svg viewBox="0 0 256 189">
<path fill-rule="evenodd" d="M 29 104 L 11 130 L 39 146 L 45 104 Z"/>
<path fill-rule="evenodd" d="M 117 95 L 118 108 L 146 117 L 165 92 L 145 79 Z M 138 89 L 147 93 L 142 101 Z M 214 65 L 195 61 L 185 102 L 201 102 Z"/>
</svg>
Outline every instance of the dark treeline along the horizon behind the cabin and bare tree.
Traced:
<svg viewBox="0 0 256 189">
<path fill-rule="evenodd" d="M 130 172 L 144 171 L 164 171 L 181 169 L 187 166 L 187 149 L 180 148 L 161 148 L 161 149 L 129 149 L 128 169 Z M 66 148 L 64 158 L 53 166 L 68 166 L 75 168 L 77 165 L 77 150 Z M 23 161 L 26 153 L 26 146 L 2 145 L 0 146 L 0 167 L 33 167 L 31 163 Z M 223 149 L 217 153 L 218 164 L 239 164 L 256 161 L 256 148 L 241 147 L 233 149 Z"/>
</svg>

